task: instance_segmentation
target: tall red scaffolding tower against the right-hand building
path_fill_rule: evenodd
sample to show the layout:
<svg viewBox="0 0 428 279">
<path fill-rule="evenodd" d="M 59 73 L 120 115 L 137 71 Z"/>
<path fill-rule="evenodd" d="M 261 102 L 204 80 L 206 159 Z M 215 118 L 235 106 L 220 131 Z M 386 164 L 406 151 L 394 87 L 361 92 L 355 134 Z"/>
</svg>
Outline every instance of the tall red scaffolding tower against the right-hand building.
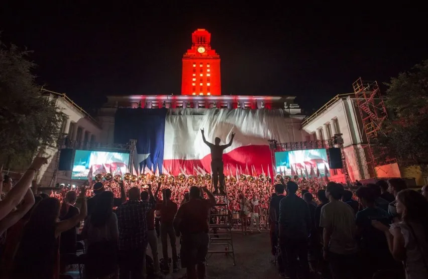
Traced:
<svg viewBox="0 0 428 279">
<path fill-rule="evenodd" d="M 367 158 L 367 173 L 369 178 L 375 178 L 375 167 L 395 163 L 395 159 L 379 162 L 372 149 L 373 140 L 381 132 L 382 123 L 388 118 L 388 113 L 377 81 L 363 81 L 360 77 L 352 84 L 352 87 L 361 114 L 363 131 L 360 131 L 360 134 L 363 141 L 364 139 L 367 141 L 366 145 L 362 145 Z"/>
</svg>

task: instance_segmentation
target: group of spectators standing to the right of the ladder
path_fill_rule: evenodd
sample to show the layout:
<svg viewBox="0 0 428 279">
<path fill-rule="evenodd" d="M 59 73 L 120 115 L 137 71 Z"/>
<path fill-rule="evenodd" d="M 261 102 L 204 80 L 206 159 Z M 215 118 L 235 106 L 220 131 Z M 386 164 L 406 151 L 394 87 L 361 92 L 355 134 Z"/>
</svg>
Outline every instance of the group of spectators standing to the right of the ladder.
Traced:
<svg viewBox="0 0 428 279">
<path fill-rule="evenodd" d="M 298 197 L 299 188 L 277 184 L 270 202 L 282 277 L 428 278 L 428 186 L 418 193 L 402 179 L 379 180 L 360 186 L 357 201 L 329 182 L 316 202 L 309 192 Z"/>
</svg>

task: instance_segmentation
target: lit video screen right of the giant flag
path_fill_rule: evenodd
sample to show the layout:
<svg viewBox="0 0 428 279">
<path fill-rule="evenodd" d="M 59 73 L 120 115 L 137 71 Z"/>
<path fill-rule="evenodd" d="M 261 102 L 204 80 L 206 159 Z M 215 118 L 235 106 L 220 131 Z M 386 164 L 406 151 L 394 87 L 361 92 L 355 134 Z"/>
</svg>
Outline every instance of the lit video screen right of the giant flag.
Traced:
<svg viewBox="0 0 428 279">
<path fill-rule="evenodd" d="M 330 176 L 326 149 L 275 152 L 276 173 L 305 178 Z"/>
</svg>

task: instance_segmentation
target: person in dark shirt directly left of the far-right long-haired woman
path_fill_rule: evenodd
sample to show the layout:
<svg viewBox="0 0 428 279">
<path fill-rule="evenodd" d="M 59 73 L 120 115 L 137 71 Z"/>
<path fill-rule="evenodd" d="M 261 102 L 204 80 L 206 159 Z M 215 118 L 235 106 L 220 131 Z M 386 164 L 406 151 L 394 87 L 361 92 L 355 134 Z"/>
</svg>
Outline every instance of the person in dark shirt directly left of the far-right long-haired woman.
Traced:
<svg viewBox="0 0 428 279">
<path fill-rule="evenodd" d="M 388 243 L 382 231 L 372 226 L 372 221 L 380 221 L 389 226 L 391 217 L 385 210 L 376 206 L 375 194 L 367 187 L 360 187 L 356 191 L 364 209 L 357 212 L 357 239 L 363 252 L 364 266 L 368 276 L 377 270 L 390 269 L 394 260 L 389 252 Z"/>
</svg>

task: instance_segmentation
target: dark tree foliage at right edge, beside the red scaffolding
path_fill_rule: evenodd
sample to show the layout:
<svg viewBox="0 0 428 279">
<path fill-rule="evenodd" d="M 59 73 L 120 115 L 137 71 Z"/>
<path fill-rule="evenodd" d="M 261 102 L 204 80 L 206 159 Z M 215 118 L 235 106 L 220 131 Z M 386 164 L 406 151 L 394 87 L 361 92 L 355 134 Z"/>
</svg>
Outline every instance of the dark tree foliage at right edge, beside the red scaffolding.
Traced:
<svg viewBox="0 0 428 279">
<path fill-rule="evenodd" d="M 428 162 L 428 60 L 386 83 L 385 105 L 393 112 L 383 123 L 375 153 L 402 166 Z"/>
</svg>

